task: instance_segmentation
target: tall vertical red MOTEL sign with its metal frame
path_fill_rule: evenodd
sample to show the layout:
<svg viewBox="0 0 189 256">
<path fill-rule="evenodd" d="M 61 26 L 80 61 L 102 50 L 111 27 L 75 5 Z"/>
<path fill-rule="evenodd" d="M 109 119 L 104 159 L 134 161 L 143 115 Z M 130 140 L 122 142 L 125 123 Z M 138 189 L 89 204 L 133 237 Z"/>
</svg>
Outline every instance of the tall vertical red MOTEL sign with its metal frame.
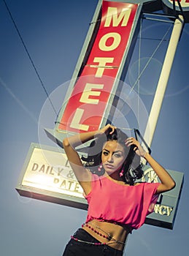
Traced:
<svg viewBox="0 0 189 256">
<path fill-rule="evenodd" d="M 141 10 L 142 4 L 99 1 L 65 107 L 53 132 L 46 129 L 50 138 L 61 143 L 63 132 L 89 132 L 107 123 L 117 81 L 126 75 Z"/>
</svg>

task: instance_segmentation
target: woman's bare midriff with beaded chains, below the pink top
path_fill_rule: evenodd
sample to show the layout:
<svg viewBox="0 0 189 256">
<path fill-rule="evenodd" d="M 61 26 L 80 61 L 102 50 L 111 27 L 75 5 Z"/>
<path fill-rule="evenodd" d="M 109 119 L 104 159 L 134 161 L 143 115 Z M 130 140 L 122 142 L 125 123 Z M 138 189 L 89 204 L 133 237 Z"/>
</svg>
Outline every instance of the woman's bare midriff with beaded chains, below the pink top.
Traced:
<svg viewBox="0 0 189 256">
<path fill-rule="evenodd" d="M 97 219 L 91 220 L 83 225 L 82 228 L 102 244 L 107 244 L 120 251 L 123 251 L 126 238 L 130 232 L 129 227 L 126 225 L 117 225 L 115 223 L 99 221 Z"/>
</svg>

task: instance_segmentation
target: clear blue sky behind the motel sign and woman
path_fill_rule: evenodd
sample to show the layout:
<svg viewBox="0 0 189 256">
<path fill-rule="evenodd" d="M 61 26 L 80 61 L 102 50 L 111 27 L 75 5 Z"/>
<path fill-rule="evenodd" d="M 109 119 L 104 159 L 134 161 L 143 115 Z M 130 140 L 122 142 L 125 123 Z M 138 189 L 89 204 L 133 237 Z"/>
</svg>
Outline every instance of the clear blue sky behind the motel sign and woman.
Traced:
<svg viewBox="0 0 189 256">
<path fill-rule="evenodd" d="M 7 4 L 47 92 L 52 94 L 63 85 L 63 99 L 97 0 L 7 0 Z M 143 67 L 169 26 L 144 20 L 140 56 Z M 47 95 L 4 1 L 0 1 L 0 33 L 1 255 L 59 256 L 74 230 L 85 222 L 86 212 L 20 197 L 15 191 L 28 148 L 31 142 L 40 140 L 39 120 Z M 167 40 L 162 42 L 140 80 L 140 97 L 147 111 L 150 111 L 167 45 Z M 188 253 L 188 45 L 189 26 L 185 24 L 151 146 L 153 156 L 164 167 L 185 173 L 174 230 L 144 225 L 128 238 L 126 255 Z M 139 41 L 126 77 L 130 86 L 136 80 L 138 54 Z M 48 121 L 53 127 L 55 120 Z M 49 139 L 42 140 L 52 145 Z"/>
</svg>

